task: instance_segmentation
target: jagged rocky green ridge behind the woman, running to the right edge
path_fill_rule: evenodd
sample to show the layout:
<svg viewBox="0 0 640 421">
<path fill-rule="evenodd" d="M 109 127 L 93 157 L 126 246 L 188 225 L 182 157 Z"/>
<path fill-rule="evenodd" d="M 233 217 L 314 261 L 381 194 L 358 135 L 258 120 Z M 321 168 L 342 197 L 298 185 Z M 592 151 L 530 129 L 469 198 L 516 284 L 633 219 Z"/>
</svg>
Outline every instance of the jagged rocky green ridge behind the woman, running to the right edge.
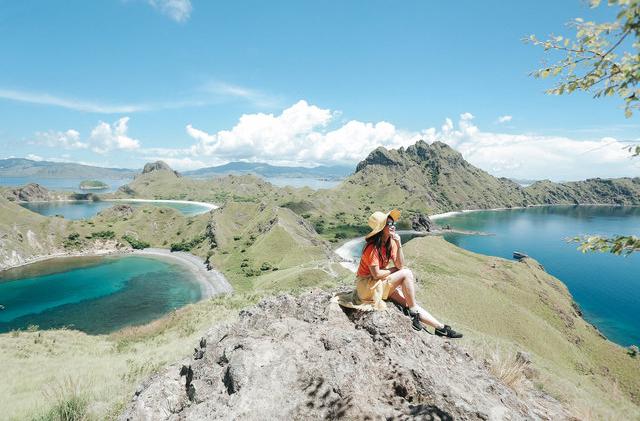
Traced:
<svg viewBox="0 0 640 421">
<path fill-rule="evenodd" d="M 540 204 L 640 205 L 638 177 L 545 180 L 521 187 L 474 167 L 445 143 L 422 140 L 406 149 L 375 149 L 346 181 L 347 187 L 372 190 L 376 203 L 403 203 L 421 211 L 426 205 L 432 212 Z"/>
</svg>

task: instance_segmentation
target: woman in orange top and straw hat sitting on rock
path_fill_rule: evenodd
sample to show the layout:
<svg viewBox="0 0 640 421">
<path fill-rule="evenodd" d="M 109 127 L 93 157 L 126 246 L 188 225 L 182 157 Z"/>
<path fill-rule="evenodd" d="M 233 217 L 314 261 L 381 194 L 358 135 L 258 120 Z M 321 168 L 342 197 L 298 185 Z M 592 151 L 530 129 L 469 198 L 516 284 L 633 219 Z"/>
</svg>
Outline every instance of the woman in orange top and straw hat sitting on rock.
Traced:
<svg viewBox="0 0 640 421">
<path fill-rule="evenodd" d="M 404 267 L 404 254 L 400 235 L 396 233 L 396 221 L 400 217 L 397 209 L 384 214 L 374 212 L 369 217 L 371 232 L 365 237 L 356 277 L 356 290 L 338 296 L 344 307 L 359 310 L 381 310 L 386 308 L 384 300 L 391 300 L 408 308 L 413 318 L 413 327 L 422 330 L 421 323 L 435 328 L 436 335 L 461 338 L 462 334 L 440 323 L 416 302 L 415 278 L 410 269 Z M 393 260 L 394 267 L 387 269 Z"/>
</svg>

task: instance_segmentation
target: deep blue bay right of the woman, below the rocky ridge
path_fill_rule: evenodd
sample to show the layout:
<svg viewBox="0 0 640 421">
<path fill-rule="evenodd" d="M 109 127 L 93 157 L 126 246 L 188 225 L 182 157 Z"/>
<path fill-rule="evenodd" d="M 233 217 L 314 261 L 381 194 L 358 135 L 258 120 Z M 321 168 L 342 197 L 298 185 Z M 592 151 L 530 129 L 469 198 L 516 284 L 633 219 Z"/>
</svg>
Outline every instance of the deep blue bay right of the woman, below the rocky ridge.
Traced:
<svg viewBox="0 0 640 421">
<path fill-rule="evenodd" d="M 583 254 L 566 238 L 585 234 L 640 235 L 640 207 L 547 206 L 470 212 L 443 218 L 439 225 L 495 235 L 448 234 L 467 250 L 512 258 L 521 251 L 564 282 L 584 317 L 610 340 L 640 344 L 640 253 L 629 257 Z"/>
</svg>

